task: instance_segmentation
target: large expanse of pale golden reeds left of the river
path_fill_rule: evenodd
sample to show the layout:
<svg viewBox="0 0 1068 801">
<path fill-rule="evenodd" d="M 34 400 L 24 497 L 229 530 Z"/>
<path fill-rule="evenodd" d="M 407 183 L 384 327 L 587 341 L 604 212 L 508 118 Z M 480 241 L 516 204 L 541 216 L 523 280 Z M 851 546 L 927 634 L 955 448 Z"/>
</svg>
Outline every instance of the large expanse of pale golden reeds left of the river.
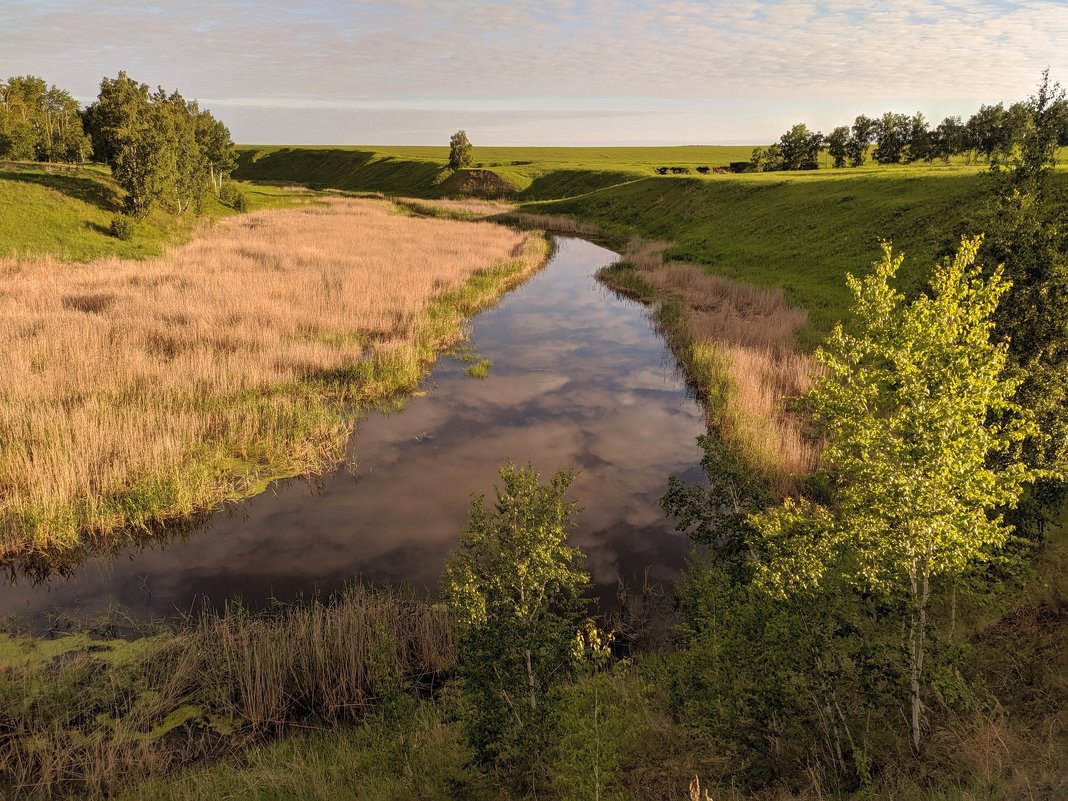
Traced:
<svg viewBox="0 0 1068 801">
<path fill-rule="evenodd" d="M 411 388 L 544 261 L 540 237 L 393 209 L 261 211 L 146 262 L 0 260 L 0 556 L 340 458 L 340 396 Z"/>
</svg>

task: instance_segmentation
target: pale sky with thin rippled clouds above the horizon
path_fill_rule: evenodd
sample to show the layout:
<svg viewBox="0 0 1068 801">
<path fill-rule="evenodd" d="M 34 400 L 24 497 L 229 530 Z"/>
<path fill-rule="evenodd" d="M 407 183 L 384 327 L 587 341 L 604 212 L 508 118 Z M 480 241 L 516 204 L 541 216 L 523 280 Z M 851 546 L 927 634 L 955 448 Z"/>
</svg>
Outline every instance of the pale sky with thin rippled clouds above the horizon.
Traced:
<svg viewBox="0 0 1068 801">
<path fill-rule="evenodd" d="M 1068 83 L 1068 0 L 0 0 L 0 79 L 120 69 L 257 144 L 761 144 Z"/>
</svg>

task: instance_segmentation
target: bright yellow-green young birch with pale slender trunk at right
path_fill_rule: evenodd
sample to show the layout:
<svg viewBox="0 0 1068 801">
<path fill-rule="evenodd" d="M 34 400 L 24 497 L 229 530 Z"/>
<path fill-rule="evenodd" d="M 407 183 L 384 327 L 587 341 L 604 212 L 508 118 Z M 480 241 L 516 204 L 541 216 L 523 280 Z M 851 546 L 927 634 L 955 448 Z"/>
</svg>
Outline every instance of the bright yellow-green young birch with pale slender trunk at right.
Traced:
<svg viewBox="0 0 1068 801">
<path fill-rule="evenodd" d="M 835 328 L 817 351 L 827 373 L 807 395 L 824 427 L 833 501 L 787 500 L 753 519 L 771 592 L 845 577 L 904 597 L 917 751 L 931 582 L 1005 543 L 1010 527 L 995 511 L 1015 505 L 1035 476 L 1011 457 L 1034 427 L 1012 400 L 1019 382 L 1003 375 L 1007 346 L 991 342 L 1007 284 L 1001 270 L 983 278 L 979 244 L 962 240 L 936 269 L 930 295 L 911 303 L 891 286 L 901 257 L 889 245 L 871 276 L 849 277 L 855 333 Z"/>
</svg>

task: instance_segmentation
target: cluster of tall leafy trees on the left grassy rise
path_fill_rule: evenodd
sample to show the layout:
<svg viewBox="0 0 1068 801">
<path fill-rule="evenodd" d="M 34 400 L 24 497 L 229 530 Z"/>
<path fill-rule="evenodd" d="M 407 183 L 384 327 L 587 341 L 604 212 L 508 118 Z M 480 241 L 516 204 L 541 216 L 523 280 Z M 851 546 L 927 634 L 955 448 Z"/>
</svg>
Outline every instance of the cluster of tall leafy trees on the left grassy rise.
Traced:
<svg viewBox="0 0 1068 801">
<path fill-rule="evenodd" d="M 157 204 L 200 213 L 209 193 L 240 205 L 240 195 L 223 188 L 237 166 L 230 129 L 195 100 L 153 92 L 125 72 L 101 80 L 84 109 L 43 78 L 0 83 L 0 158 L 106 163 L 134 217 Z"/>
</svg>

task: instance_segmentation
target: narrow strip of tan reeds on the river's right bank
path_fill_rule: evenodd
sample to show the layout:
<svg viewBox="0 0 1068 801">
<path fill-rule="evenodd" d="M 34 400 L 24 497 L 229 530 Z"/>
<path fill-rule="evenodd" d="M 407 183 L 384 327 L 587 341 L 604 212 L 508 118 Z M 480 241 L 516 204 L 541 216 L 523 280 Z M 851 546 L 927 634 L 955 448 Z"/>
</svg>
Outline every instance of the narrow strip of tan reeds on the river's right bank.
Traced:
<svg viewBox="0 0 1068 801">
<path fill-rule="evenodd" d="M 811 389 L 818 365 L 794 349 L 807 314 L 790 307 L 782 289 L 761 289 L 709 274 L 691 265 L 665 263 L 664 242 L 633 241 L 624 260 L 655 290 L 684 305 L 684 361 L 708 382 L 725 382 L 709 405 L 710 423 L 751 464 L 787 494 L 812 472 L 819 449 L 804 436 L 787 399 Z M 709 390 L 710 388 L 705 387 Z"/>
</svg>

